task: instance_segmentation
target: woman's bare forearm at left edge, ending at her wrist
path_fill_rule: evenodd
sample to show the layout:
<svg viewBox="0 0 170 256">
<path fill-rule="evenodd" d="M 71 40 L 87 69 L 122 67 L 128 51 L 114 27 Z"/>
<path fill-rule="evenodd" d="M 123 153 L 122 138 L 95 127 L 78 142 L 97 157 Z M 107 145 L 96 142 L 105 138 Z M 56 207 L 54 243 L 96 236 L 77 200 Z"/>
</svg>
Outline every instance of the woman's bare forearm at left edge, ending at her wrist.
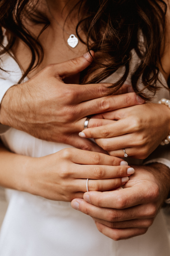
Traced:
<svg viewBox="0 0 170 256">
<path fill-rule="evenodd" d="M 9 152 L 0 143 L 0 186 L 26 191 L 28 156 Z"/>
</svg>

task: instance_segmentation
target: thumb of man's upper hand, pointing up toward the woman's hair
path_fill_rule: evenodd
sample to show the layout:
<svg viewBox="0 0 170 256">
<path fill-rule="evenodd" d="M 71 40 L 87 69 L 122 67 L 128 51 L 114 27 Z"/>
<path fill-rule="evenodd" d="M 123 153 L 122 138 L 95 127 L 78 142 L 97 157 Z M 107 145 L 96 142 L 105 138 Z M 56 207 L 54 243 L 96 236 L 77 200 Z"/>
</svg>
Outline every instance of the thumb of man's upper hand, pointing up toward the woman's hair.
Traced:
<svg viewBox="0 0 170 256">
<path fill-rule="evenodd" d="M 54 65 L 55 74 L 64 79 L 66 76 L 75 75 L 81 72 L 93 61 L 90 54 L 94 56 L 94 52 L 90 51 L 90 53 L 86 52 L 83 56 Z"/>
</svg>

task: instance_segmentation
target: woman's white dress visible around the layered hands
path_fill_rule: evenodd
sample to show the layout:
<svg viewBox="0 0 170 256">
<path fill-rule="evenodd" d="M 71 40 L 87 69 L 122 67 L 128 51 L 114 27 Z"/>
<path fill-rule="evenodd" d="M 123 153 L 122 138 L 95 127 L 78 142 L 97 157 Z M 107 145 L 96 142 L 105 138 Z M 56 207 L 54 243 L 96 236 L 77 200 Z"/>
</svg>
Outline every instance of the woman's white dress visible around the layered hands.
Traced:
<svg viewBox="0 0 170 256">
<path fill-rule="evenodd" d="M 0 78 L 16 83 L 21 77 L 18 65 L 8 55 L 3 57 L 3 65 L 14 72 L 1 71 Z M 113 77 L 107 81 L 113 81 Z M 163 89 L 162 96 L 169 98 Z M 1 140 L 12 152 L 32 157 L 72 148 L 39 140 L 14 128 L 5 132 Z M 0 256 L 170 256 L 162 212 L 145 235 L 113 241 L 97 230 L 90 216 L 74 210 L 68 202 L 47 200 L 27 192 L 10 192 L 0 232 Z"/>
</svg>

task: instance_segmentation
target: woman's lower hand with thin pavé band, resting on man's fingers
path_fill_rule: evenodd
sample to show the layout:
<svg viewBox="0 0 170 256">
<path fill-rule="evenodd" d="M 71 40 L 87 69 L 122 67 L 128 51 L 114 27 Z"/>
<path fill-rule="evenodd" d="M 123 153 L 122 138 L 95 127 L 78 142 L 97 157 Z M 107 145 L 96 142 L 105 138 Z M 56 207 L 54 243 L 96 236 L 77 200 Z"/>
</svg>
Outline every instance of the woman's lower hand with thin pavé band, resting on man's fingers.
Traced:
<svg viewBox="0 0 170 256">
<path fill-rule="evenodd" d="M 122 159 L 101 153 L 66 148 L 40 158 L 30 158 L 20 190 L 50 200 L 83 198 L 89 191 L 107 191 L 128 181 L 134 169 Z"/>
</svg>

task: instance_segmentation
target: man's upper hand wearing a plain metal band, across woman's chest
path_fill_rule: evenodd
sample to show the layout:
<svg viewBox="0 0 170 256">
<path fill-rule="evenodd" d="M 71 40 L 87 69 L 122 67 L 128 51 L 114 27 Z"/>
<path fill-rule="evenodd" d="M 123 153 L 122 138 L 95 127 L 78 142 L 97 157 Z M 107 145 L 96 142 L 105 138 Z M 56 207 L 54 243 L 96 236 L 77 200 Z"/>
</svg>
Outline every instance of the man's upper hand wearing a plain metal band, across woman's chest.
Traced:
<svg viewBox="0 0 170 256">
<path fill-rule="evenodd" d="M 92 52 L 93 54 L 93 52 Z M 24 84 L 5 94 L 0 123 L 22 130 L 42 140 L 70 144 L 76 148 L 105 152 L 97 144 L 80 138 L 86 116 L 124 108 L 138 102 L 134 92 L 105 96 L 109 84 L 65 84 L 63 79 L 81 72 L 92 62 L 86 53 L 61 64 L 51 64 Z M 127 92 L 124 87 L 120 93 Z M 88 127 L 109 124 L 111 120 L 91 119 Z"/>
</svg>

